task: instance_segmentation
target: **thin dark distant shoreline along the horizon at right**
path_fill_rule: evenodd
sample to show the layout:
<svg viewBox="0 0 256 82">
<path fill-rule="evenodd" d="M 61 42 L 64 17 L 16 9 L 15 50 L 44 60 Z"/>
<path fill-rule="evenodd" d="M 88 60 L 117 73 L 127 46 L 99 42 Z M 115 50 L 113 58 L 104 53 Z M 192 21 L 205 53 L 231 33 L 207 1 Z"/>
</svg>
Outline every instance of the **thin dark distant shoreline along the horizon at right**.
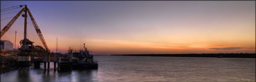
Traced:
<svg viewBox="0 0 256 82">
<path fill-rule="evenodd" d="M 256 58 L 255 53 L 205 53 L 205 54 L 111 54 L 110 56 L 161 56 L 161 57 L 235 57 Z"/>
</svg>

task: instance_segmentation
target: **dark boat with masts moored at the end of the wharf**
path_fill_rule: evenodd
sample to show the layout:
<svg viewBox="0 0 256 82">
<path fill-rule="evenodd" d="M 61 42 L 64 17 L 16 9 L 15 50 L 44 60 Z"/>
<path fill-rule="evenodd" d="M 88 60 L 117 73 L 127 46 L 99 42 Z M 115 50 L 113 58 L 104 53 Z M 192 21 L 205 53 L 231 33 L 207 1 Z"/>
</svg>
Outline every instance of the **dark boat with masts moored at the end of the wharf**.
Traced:
<svg viewBox="0 0 256 82">
<path fill-rule="evenodd" d="M 67 54 L 59 57 L 58 71 L 72 71 L 72 69 L 98 69 L 98 61 L 87 50 L 86 44 L 79 52 L 69 48 Z"/>
</svg>

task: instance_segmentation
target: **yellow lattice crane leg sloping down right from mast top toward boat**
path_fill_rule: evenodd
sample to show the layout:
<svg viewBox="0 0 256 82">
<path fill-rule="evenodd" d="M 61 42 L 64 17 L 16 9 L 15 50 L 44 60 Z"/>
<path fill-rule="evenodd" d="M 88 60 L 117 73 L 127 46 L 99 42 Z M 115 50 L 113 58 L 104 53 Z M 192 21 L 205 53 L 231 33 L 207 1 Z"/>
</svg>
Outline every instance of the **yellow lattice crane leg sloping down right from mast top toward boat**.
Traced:
<svg viewBox="0 0 256 82">
<path fill-rule="evenodd" d="M 30 12 L 30 9 L 27 8 L 27 10 L 28 10 L 28 14 L 30 14 L 31 21 L 32 21 L 32 23 L 34 25 L 34 28 L 36 29 L 37 35 L 39 36 L 40 40 L 43 43 L 43 46 L 45 47 L 46 51 L 50 52 L 50 50 L 49 50 L 49 48 L 48 48 L 48 46 L 47 46 L 47 44 L 45 42 L 45 39 L 43 38 L 43 34 L 40 31 L 40 29 L 39 29 L 39 26 L 37 25 L 36 20 L 34 20 L 34 17 L 32 16 L 32 14 Z"/>
</svg>

